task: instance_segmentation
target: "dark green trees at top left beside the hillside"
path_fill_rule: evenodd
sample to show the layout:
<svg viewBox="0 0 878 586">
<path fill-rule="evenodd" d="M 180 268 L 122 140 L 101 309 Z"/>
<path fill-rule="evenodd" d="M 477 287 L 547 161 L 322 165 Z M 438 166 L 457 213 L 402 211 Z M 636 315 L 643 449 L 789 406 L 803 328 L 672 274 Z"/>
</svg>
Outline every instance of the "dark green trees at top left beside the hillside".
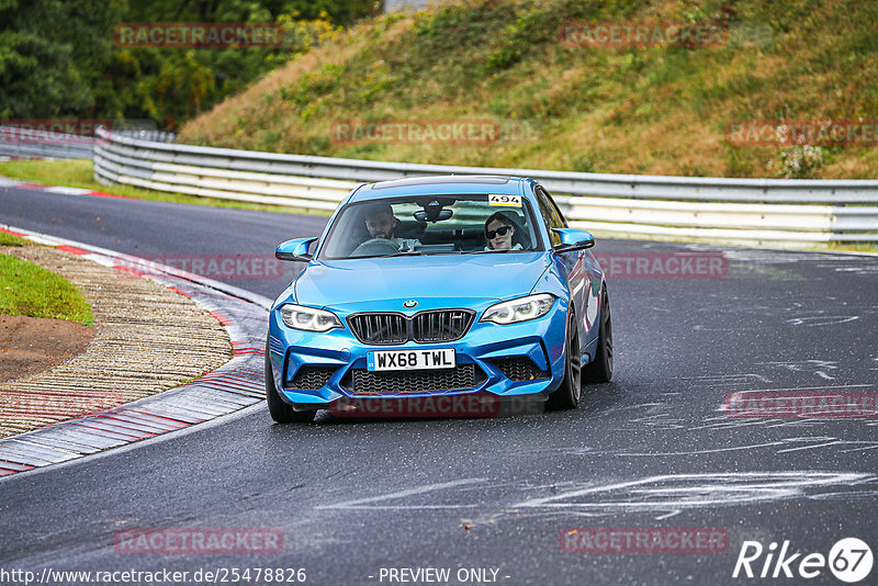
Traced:
<svg viewBox="0 0 878 586">
<path fill-rule="evenodd" d="M 338 25 L 380 8 L 375 0 L 0 0 L 0 119 L 151 119 L 173 128 L 295 54 L 120 47 L 113 27 L 123 22 Z"/>
</svg>

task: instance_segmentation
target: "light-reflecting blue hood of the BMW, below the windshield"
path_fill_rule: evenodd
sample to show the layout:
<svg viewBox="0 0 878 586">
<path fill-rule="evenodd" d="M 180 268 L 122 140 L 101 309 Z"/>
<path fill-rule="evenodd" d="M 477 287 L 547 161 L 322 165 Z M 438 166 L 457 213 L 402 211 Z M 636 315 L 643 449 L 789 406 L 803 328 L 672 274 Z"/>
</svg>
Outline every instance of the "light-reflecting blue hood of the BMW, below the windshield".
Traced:
<svg viewBox="0 0 878 586">
<path fill-rule="evenodd" d="M 312 306 L 398 298 L 504 300 L 528 294 L 549 267 L 545 252 L 425 255 L 312 261 L 295 281 Z"/>
</svg>

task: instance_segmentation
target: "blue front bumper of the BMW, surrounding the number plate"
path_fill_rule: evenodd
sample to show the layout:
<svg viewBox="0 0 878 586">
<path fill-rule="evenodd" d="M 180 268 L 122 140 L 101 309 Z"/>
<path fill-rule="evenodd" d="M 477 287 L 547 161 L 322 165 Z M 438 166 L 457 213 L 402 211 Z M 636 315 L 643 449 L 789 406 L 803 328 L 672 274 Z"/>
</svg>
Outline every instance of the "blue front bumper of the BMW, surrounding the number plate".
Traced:
<svg viewBox="0 0 878 586">
<path fill-rule="evenodd" d="M 334 313 L 345 324 L 324 334 L 302 331 L 284 324 L 277 309 L 269 317 L 269 358 L 274 387 L 299 408 L 327 407 L 338 399 L 404 398 L 485 393 L 498 397 L 544 395 L 564 376 L 567 306 L 555 300 L 544 316 L 511 325 L 480 323 L 476 309 L 469 331 L 451 342 L 367 345 L 348 329 L 350 313 Z M 412 312 L 415 313 L 415 312 Z M 367 370 L 372 350 L 453 348 L 454 369 L 419 371 Z M 451 372 L 453 371 L 453 372 Z"/>
</svg>

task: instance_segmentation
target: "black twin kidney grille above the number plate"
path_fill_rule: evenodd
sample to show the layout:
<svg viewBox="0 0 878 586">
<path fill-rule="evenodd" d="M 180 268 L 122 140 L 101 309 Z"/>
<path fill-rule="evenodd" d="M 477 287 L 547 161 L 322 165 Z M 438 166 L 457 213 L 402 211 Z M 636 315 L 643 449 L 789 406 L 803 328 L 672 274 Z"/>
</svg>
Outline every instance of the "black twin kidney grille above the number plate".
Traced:
<svg viewBox="0 0 878 586">
<path fill-rule="evenodd" d="M 363 343 L 444 342 L 462 338 L 475 318 L 472 309 L 430 309 L 412 317 L 396 313 L 363 313 L 348 317 L 350 330 Z"/>
</svg>

